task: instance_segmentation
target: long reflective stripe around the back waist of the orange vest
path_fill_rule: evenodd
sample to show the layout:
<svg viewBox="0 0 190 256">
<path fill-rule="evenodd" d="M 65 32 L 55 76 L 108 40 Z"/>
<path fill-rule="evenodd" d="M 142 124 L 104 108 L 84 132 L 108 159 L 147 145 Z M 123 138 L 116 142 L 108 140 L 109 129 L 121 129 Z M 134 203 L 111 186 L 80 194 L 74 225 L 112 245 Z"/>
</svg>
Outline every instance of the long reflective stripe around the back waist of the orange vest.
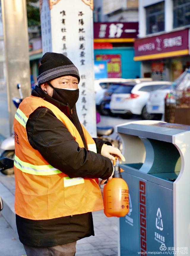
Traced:
<svg viewBox="0 0 190 256">
<path fill-rule="evenodd" d="M 33 175 L 53 175 L 53 174 L 61 173 L 61 171 L 54 168 L 50 164 L 48 165 L 29 164 L 21 161 L 16 155 L 15 155 L 14 165 L 22 172 L 26 172 Z"/>
</svg>

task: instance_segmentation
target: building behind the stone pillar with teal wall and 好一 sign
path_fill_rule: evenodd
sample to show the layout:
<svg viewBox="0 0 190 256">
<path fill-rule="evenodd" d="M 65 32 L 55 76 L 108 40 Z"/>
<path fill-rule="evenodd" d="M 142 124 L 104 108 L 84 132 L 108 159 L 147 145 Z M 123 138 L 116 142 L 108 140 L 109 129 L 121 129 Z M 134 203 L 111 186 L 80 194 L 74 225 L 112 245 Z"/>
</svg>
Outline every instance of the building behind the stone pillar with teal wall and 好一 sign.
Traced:
<svg viewBox="0 0 190 256">
<path fill-rule="evenodd" d="M 94 1 L 94 59 L 107 62 L 107 77 L 136 78 L 140 63 L 134 62 L 138 35 L 138 0 Z"/>
</svg>

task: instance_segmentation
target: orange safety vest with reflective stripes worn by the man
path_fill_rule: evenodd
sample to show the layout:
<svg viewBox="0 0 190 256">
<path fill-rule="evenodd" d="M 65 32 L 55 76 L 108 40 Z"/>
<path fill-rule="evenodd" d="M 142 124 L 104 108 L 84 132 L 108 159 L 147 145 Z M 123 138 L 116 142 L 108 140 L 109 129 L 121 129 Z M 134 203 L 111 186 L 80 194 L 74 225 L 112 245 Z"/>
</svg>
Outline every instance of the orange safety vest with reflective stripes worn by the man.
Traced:
<svg viewBox="0 0 190 256">
<path fill-rule="evenodd" d="M 38 107 L 50 109 L 64 123 L 79 146 L 84 147 L 76 127 L 61 110 L 42 98 L 25 98 L 14 119 L 15 213 L 31 220 L 47 220 L 103 209 L 102 195 L 95 179 L 69 178 L 51 166 L 30 145 L 26 122 Z M 96 152 L 94 140 L 82 128 L 88 150 Z"/>
</svg>

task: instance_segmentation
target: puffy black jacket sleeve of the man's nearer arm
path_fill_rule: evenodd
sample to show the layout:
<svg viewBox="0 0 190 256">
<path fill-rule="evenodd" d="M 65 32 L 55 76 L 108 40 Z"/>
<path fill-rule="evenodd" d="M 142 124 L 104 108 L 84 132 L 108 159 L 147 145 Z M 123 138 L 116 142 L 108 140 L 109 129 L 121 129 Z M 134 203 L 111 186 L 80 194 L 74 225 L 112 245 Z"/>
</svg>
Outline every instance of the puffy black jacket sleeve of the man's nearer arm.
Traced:
<svg viewBox="0 0 190 256">
<path fill-rule="evenodd" d="M 46 108 L 38 108 L 26 124 L 30 145 L 53 167 L 70 178 L 107 179 L 113 172 L 110 159 L 81 148 L 66 126 Z"/>
</svg>

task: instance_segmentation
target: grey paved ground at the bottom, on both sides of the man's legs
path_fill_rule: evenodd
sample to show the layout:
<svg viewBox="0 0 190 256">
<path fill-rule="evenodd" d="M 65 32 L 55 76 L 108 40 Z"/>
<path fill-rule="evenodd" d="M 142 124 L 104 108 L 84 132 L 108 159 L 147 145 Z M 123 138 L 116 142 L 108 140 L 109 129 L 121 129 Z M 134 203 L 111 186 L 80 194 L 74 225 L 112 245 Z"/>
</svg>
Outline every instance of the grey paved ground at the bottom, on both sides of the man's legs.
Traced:
<svg viewBox="0 0 190 256">
<path fill-rule="evenodd" d="M 117 256 L 118 218 L 107 218 L 103 211 L 93 213 L 95 236 L 77 241 L 76 256 Z M 26 256 L 18 235 L 0 214 L 0 255 Z"/>
</svg>

